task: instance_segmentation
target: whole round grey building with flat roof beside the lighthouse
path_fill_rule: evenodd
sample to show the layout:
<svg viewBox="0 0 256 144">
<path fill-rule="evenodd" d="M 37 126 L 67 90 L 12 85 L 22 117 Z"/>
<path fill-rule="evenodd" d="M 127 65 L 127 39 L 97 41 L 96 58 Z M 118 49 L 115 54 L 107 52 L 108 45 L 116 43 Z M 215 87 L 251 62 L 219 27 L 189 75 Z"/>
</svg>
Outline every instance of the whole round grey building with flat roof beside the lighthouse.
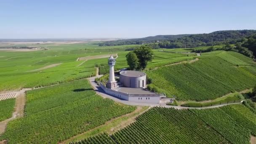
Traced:
<svg viewBox="0 0 256 144">
<path fill-rule="evenodd" d="M 120 83 L 127 88 L 146 87 L 146 73 L 135 70 L 120 72 Z"/>
</svg>

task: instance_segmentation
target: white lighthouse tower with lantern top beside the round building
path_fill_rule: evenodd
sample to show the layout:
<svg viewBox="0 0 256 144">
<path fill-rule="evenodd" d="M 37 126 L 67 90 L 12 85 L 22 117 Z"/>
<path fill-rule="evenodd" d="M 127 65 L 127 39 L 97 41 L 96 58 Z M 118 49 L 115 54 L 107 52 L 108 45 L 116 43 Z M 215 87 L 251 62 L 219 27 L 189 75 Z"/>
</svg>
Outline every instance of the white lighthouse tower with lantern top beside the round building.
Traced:
<svg viewBox="0 0 256 144">
<path fill-rule="evenodd" d="M 112 55 L 108 59 L 108 64 L 109 64 L 109 81 L 107 82 L 107 88 L 113 89 L 117 87 L 117 82 L 115 81 L 115 73 L 114 73 L 115 59 Z"/>
</svg>

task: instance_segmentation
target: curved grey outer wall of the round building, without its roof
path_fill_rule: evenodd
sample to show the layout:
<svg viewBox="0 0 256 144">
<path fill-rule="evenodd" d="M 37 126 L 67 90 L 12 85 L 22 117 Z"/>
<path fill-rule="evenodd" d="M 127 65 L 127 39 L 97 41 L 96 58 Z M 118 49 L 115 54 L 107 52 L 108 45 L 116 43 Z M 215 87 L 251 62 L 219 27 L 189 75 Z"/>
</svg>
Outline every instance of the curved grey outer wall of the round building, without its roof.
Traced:
<svg viewBox="0 0 256 144">
<path fill-rule="evenodd" d="M 128 88 L 146 87 L 146 75 L 141 77 L 130 77 L 125 75 L 120 75 L 120 83 Z"/>
</svg>

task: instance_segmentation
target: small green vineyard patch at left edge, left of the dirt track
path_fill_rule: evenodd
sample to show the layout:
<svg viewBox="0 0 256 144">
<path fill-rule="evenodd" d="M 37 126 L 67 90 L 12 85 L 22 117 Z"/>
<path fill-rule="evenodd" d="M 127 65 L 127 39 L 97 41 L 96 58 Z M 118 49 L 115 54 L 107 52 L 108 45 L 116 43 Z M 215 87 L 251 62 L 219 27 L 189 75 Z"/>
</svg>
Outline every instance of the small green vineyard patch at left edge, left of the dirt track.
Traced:
<svg viewBox="0 0 256 144">
<path fill-rule="evenodd" d="M 12 116 L 14 105 L 15 99 L 5 99 L 0 101 L 0 122 Z"/>
</svg>

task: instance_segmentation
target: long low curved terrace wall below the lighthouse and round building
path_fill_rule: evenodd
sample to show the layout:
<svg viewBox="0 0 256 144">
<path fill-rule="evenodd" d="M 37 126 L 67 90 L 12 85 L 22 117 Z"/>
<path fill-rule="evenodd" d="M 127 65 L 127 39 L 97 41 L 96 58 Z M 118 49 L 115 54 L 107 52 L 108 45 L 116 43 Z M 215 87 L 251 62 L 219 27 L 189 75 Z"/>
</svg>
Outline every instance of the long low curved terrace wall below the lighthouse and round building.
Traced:
<svg viewBox="0 0 256 144">
<path fill-rule="evenodd" d="M 126 101 L 157 103 L 157 104 L 160 102 L 159 94 L 128 94 L 128 93 L 122 93 L 119 91 L 106 88 L 102 83 L 99 83 L 99 86 L 103 89 L 105 93 Z"/>
</svg>

